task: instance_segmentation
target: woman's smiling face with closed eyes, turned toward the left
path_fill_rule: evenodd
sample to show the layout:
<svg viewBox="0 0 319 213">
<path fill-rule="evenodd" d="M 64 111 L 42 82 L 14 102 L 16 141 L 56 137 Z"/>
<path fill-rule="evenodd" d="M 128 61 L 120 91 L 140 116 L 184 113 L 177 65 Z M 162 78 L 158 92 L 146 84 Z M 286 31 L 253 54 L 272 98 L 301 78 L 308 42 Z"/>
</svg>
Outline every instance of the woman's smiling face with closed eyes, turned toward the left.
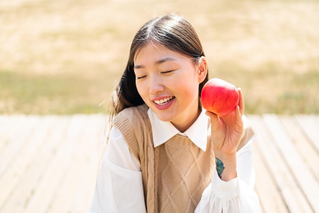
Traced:
<svg viewBox="0 0 319 213">
<path fill-rule="evenodd" d="M 144 102 L 162 121 L 172 122 L 181 132 L 187 130 L 200 112 L 198 87 L 207 74 L 206 60 L 197 64 L 151 42 L 134 59 L 136 87 Z"/>
</svg>

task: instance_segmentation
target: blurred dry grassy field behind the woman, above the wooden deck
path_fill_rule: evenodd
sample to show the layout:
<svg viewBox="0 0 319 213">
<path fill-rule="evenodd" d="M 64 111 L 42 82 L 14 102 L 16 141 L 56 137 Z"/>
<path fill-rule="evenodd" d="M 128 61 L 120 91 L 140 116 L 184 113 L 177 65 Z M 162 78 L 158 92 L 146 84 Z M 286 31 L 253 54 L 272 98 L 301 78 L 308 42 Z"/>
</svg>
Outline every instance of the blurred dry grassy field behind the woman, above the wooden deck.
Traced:
<svg viewBox="0 0 319 213">
<path fill-rule="evenodd" d="M 0 113 L 108 113 L 132 38 L 177 13 L 246 114 L 319 113 L 316 0 L 0 0 Z M 214 71 L 213 71 L 214 70 Z"/>
</svg>

